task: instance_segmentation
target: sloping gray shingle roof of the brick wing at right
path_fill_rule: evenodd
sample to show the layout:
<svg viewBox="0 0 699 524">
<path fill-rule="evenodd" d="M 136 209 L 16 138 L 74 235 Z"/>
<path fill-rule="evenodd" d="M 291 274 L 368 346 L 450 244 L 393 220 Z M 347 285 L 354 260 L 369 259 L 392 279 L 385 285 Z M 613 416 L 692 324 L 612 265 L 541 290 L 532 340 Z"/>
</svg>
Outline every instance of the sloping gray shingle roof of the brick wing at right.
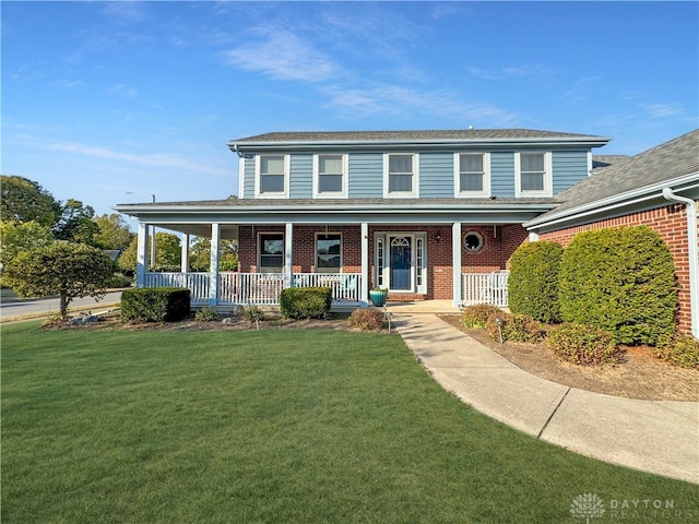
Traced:
<svg viewBox="0 0 699 524">
<path fill-rule="evenodd" d="M 699 130 L 628 158 L 618 158 L 556 196 L 560 204 L 542 218 L 561 214 L 585 204 L 698 174 Z"/>
</svg>

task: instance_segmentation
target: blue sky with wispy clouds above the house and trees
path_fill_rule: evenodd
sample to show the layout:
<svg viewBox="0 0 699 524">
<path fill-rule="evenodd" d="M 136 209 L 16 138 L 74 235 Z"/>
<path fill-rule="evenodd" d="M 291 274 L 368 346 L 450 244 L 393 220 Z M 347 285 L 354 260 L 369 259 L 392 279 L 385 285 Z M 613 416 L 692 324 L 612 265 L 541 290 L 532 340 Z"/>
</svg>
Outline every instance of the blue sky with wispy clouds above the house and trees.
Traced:
<svg viewBox="0 0 699 524">
<path fill-rule="evenodd" d="M 270 131 L 529 128 L 633 155 L 699 123 L 697 2 L 1 10 L 1 171 L 97 214 L 225 199 L 227 141 Z"/>
</svg>

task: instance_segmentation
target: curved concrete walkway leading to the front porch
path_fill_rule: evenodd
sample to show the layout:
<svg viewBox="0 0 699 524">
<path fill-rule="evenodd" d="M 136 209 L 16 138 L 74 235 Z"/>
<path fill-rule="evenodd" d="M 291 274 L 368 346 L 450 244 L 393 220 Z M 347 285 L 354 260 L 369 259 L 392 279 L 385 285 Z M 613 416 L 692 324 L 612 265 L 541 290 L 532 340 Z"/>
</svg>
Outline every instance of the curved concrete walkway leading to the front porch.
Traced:
<svg viewBox="0 0 699 524">
<path fill-rule="evenodd" d="M 530 374 L 434 314 L 394 314 L 446 390 L 525 433 L 605 462 L 699 484 L 699 402 L 591 393 Z"/>
</svg>

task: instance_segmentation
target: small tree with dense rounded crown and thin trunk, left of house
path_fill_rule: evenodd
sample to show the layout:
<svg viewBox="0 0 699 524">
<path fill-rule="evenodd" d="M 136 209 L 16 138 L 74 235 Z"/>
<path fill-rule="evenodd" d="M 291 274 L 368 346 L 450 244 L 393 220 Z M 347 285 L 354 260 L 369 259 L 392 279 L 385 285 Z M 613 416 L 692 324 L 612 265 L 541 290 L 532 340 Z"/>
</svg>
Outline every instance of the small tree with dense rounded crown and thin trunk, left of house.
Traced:
<svg viewBox="0 0 699 524">
<path fill-rule="evenodd" d="M 61 319 L 75 297 L 102 298 L 115 264 L 102 250 L 83 243 L 55 242 L 17 254 L 4 277 L 20 297 L 60 297 Z"/>
</svg>

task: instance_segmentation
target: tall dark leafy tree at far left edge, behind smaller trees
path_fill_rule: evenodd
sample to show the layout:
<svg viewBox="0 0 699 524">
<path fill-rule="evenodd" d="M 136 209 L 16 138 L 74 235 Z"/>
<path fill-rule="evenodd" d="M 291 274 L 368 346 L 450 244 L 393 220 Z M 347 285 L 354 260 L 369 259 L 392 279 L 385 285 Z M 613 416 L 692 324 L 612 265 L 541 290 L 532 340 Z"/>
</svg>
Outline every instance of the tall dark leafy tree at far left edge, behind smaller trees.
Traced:
<svg viewBox="0 0 699 524">
<path fill-rule="evenodd" d="M 0 175 L 1 221 L 34 221 L 54 227 L 60 216 L 60 202 L 37 182 L 24 177 Z"/>
</svg>

